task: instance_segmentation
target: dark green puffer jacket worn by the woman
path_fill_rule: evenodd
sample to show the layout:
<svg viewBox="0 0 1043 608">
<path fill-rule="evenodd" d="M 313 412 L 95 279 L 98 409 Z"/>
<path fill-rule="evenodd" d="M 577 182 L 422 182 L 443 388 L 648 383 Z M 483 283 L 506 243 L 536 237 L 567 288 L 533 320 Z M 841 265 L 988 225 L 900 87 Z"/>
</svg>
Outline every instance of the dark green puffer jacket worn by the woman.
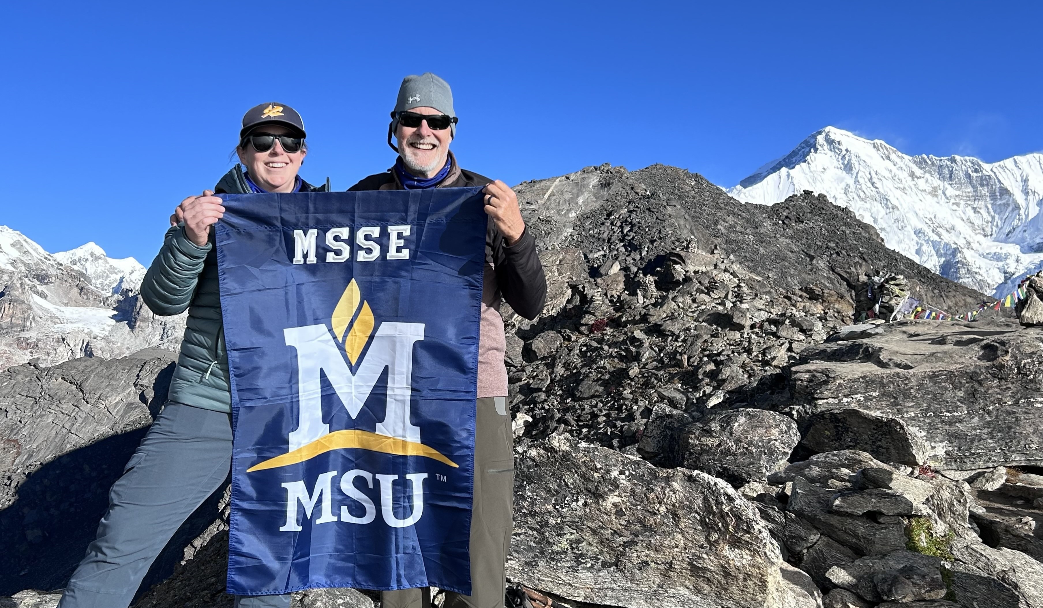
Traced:
<svg viewBox="0 0 1043 608">
<path fill-rule="evenodd" d="M 300 192 L 325 192 L 302 181 Z M 237 164 L 214 187 L 216 194 L 247 194 L 243 169 Z M 228 358 L 217 285 L 217 252 L 213 233 L 205 247 L 189 240 L 183 224 L 167 230 L 163 249 L 152 260 L 141 285 L 141 297 L 160 316 L 189 310 L 181 353 L 170 381 L 168 399 L 185 405 L 232 410 Z"/>
</svg>

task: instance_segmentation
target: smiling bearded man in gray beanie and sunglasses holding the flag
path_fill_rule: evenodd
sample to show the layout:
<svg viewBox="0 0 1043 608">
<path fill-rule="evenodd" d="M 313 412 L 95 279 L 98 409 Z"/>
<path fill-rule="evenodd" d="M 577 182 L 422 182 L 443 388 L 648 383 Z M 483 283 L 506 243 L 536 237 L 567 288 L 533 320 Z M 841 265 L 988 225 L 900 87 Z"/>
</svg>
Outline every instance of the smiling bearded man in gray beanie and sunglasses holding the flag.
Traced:
<svg viewBox="0 0 1043 608">
<path fill-rule="evenodd" d="M 388 145 L 398 153 L 394 167 L 348 192 L 485 186 L 488 224 L 478 357 L 471 593 L 448 591 L 444 606 L 493 608 L 504 605 L 504 566 L 513 528 L 514 464 L 500 304 L 506 300 L 522 316 L 535 319 L 547 298 L 547 279 L 514 192 L 503 181 L 463 170 L 450 152 L 457 122 L 447 82 L 430 72 L 407 76 L 388 127 Z M 385 608 L 427 608 L 430 601 L 427 587 L 383 593 Z"/>
</svg>

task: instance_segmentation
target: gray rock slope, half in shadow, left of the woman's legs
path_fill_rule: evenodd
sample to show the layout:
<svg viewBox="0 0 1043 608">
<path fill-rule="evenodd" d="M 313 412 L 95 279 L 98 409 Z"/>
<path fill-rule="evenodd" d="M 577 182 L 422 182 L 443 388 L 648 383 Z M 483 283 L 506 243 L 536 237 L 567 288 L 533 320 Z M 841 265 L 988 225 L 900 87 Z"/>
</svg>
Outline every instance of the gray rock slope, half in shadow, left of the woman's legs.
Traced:
<svg viewBox="0 0 1043 608">
<path fill-rule="evenodd" d="M 166 400 L 173 354 L 160 354 L 0 372 L 0 597 L 62 587 L 82 559 Z"/>
</svg>

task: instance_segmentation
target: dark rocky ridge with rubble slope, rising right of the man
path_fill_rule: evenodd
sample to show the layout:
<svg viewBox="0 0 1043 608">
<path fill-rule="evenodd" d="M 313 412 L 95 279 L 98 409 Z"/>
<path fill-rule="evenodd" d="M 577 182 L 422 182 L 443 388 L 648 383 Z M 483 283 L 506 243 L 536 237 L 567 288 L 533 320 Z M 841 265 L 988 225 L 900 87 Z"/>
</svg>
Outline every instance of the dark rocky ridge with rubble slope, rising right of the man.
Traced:
<svg viewBox="0 0 1043 608">
<path fill-rule="evenodd" d="M 877 275 L 902 274 L 950 308 L 983 298 L 810 194 L 743 204 L 662 166 L 515 189 L 549 276 L 544 314 L 508 319 L 510 398 L 527 436 L 565 431 L 621 449 L 655 403 L 697 416 L 771 407 L 790 397 L 781 370 L 850 324 L 853 293 Z"/>
</svg>

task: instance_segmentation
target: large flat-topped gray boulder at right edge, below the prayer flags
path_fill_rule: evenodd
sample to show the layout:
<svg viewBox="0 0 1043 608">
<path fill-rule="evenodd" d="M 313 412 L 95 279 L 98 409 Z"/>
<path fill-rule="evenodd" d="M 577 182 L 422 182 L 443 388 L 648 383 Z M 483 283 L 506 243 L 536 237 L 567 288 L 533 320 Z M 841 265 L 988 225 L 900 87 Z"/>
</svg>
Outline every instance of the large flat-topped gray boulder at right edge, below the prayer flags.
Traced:
<svg viewBox="0 0 1043 608">
<path fill-rule="evenodd" d="M 810 452 L 954 470 L 1040 465 L 1041 371 L 1041 328 L 898 322 L 802 351 L 793 412 Z"/>
</svg>

